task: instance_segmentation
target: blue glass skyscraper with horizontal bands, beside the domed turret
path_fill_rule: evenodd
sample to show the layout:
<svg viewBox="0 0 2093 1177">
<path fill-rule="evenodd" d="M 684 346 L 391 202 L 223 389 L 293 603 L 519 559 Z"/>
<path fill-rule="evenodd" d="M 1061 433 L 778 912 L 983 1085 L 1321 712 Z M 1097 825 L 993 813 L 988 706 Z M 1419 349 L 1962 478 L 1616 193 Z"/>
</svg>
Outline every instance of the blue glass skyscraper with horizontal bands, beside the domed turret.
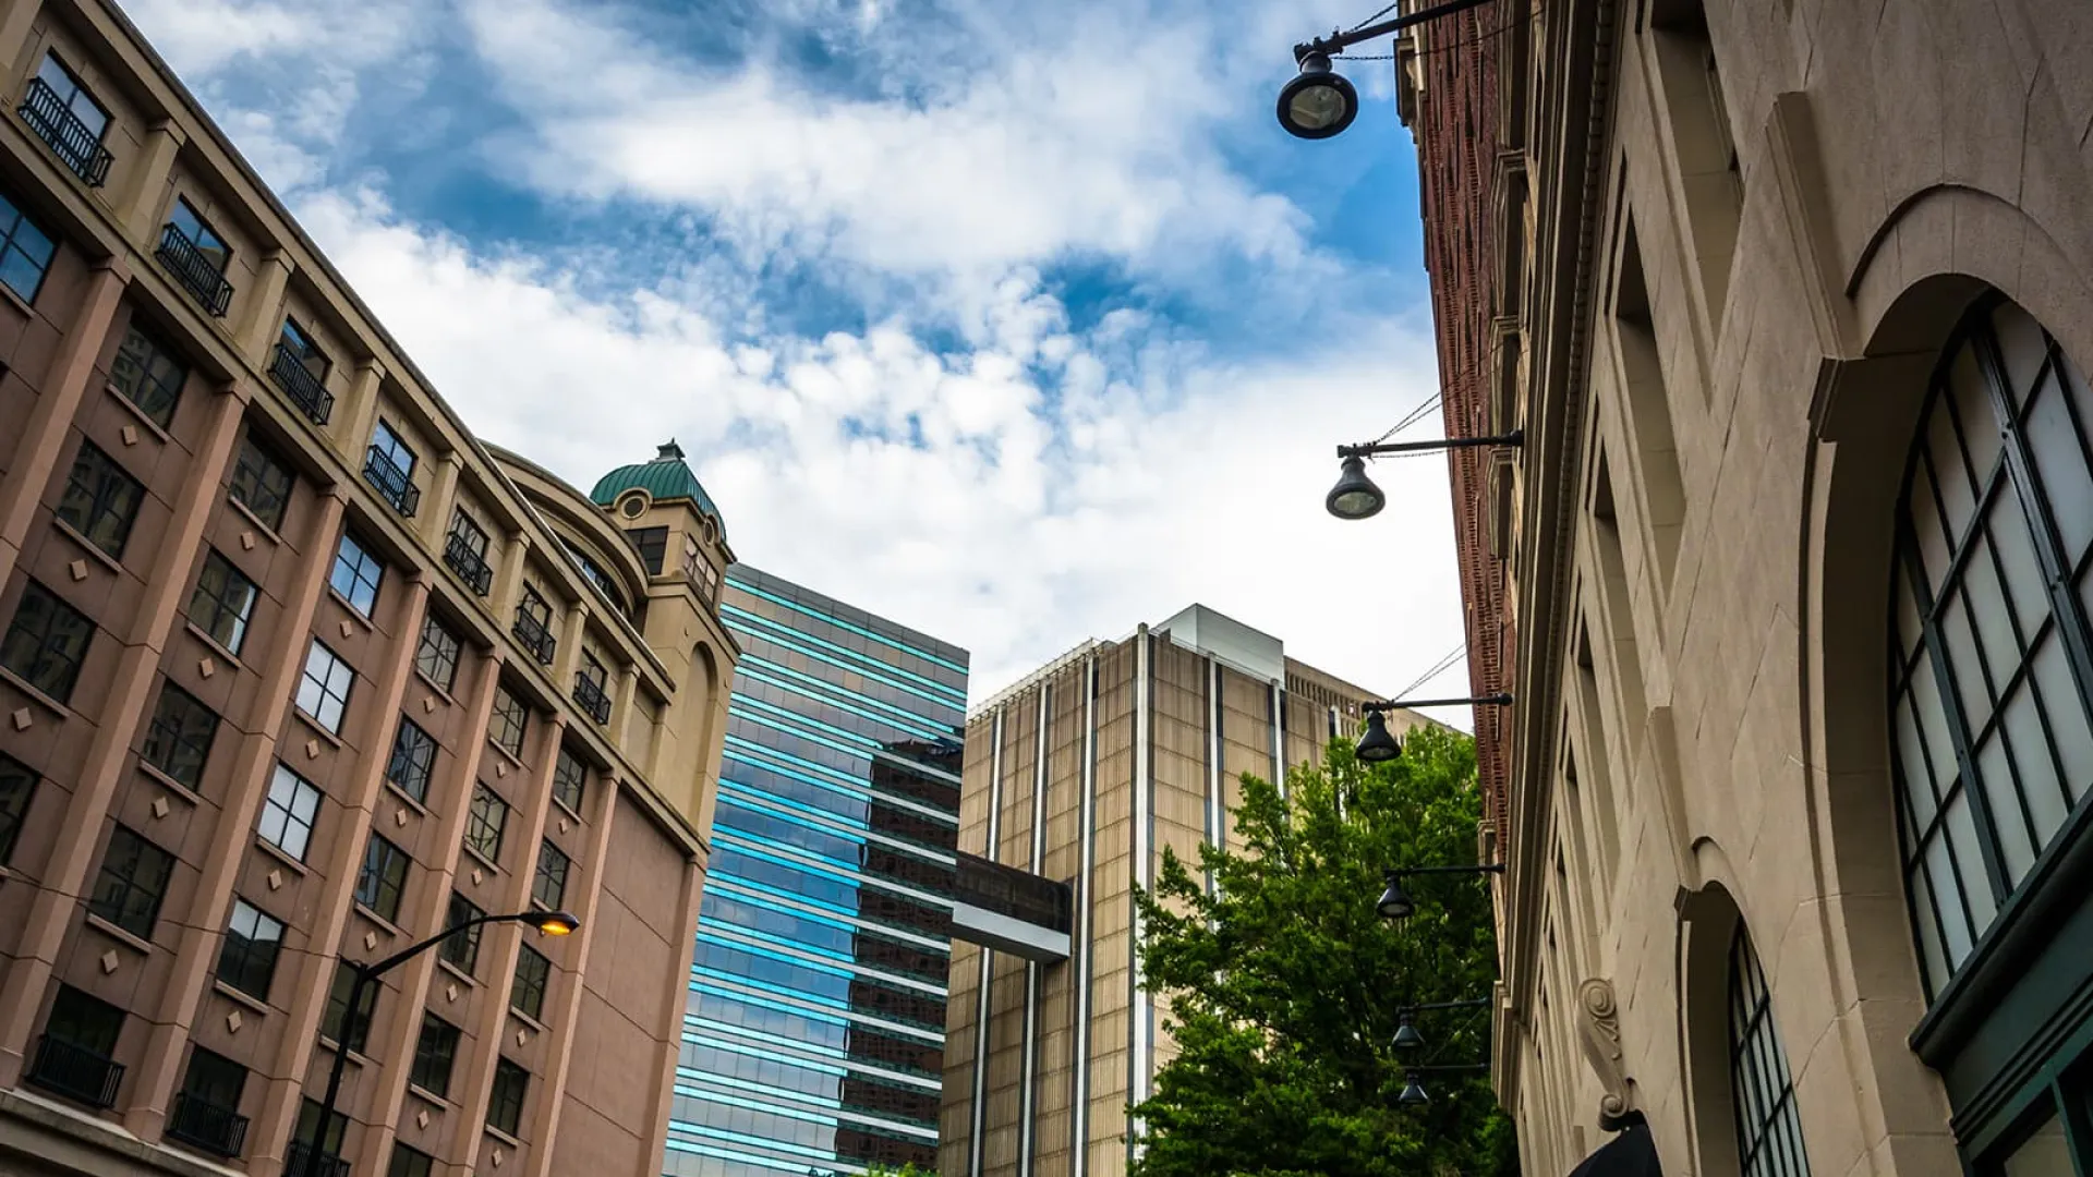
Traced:
<svg viewBox="0 0 2093 1177">
<path fill-rule="evenodd" d="M 747 565 L 663 1169 L 936 1169 L 967 651 Z"/>
</svg>

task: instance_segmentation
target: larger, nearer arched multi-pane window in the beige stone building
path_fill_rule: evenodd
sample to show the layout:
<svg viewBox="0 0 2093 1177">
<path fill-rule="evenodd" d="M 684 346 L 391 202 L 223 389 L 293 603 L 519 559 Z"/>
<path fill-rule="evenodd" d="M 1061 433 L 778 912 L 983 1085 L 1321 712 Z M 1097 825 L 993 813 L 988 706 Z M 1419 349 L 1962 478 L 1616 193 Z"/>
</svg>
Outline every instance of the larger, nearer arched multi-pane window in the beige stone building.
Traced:
<svg viewBox="0 0 2093 1177">
<path fill-rule="evenodd" d="M 1890 729 L 1928 995 L 2093 785 L 2093 396 L 2018 306 L 1936 369 L 1898 501 Z"/>
</svg>

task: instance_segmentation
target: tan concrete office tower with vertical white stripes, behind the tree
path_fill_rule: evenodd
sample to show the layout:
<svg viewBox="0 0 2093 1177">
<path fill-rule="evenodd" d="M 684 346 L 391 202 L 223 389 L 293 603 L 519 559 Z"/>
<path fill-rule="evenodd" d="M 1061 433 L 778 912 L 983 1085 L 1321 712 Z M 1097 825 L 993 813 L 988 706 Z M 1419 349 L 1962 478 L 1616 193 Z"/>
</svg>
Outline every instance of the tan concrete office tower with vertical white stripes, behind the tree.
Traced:
<svg viewBox="0 0 2093 1177">
<path fill-rule="evenodd" d="M 1373 697 L 1193 605 L 1084 643 L 969 716 L 961 846 L 1067 880 L 1074 919 L 1059 955 L 952 951 L 946 1177 L 1124 1171 L 1126 1106 L 1172 1053 L 1134 984 L 1130 888 L 1153 884 L 1164 846 L 1195 859 L 1199 842 L 1233 836 L 1241 773 L 1283 779 L 1319 760 Z M 1427 723 L 1390 718 L 1396 731 Z"/>
</svg>

